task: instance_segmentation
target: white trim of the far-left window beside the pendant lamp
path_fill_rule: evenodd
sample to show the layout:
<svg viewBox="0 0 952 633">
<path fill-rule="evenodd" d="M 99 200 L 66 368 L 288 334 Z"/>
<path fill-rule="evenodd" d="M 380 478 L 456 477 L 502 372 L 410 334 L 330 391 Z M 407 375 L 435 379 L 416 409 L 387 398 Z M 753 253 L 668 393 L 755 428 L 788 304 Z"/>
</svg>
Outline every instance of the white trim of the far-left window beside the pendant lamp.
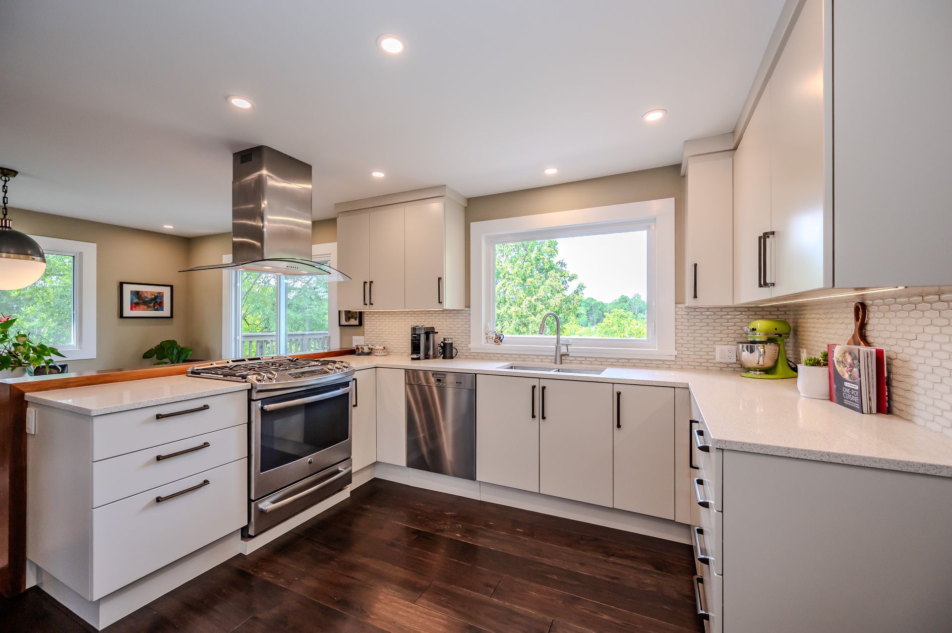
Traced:
<svg viewBox="0 0 952 633">
<path fill-rule="evenodd" d="M 83 361 L 96 357 L 96 245 L 58 237 L 30 235 L 45 253 L 73 257 L 72 331 L 76 342 L 71 346 L 56 346 L 65 358 L 54 361 Z"/>
</svg>

